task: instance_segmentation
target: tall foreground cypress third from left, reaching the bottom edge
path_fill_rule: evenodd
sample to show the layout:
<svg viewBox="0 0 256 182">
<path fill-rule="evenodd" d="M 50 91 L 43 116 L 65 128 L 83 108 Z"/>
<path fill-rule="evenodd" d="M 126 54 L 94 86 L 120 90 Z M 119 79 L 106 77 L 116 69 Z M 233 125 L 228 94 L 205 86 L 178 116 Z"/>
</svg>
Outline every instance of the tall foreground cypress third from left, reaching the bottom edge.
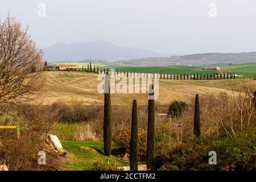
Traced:
<svg viewBox="0 0 256 182">
<path fill-rule="evenodd" d="M 146 164 L 148 170 L 155 169 L 155 100 L 154 86 L 150 85 L 148 94 L 148 121 L 147 121 L 147 156 Z"/>
</svg>

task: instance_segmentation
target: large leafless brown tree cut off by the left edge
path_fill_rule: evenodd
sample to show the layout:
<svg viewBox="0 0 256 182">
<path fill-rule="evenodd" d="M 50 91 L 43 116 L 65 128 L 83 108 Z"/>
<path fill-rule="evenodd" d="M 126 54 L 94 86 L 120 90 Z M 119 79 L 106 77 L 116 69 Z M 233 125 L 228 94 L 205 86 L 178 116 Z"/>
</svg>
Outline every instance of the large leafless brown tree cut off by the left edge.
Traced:
<svg viewBox="0 0 256 182">
<path fill-rule="evenodd" d="M 42 93 L 42 50 L 10 15 L 0 20 L 0 103 L 18 104 Z"/>
</svg>

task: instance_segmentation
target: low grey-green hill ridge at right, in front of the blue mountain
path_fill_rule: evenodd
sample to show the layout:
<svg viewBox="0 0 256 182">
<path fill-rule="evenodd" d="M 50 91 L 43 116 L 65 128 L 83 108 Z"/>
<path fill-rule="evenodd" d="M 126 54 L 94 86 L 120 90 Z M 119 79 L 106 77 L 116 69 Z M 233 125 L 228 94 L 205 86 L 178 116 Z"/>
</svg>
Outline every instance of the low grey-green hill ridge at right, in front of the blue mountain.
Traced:
<svg viewBox="0 0 256 182">
<path fill-rule="evenodd" d="M 241 53 L 196 53 L 185 56 L 149 57 L 118 61 L 121 64 L 141 66 L 167 66 L 167 65 L 209 65 L 209 64 L 243 64 L 256 62 L 256 52 Z"/>
</svg>

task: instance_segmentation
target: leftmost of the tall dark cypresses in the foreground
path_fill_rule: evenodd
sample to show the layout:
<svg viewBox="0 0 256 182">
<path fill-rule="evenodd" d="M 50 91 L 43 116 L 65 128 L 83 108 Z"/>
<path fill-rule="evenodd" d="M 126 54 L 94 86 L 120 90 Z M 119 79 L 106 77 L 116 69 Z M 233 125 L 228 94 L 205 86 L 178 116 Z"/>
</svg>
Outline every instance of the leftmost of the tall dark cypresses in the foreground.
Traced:
<svg viewBox="0 0 256 182">
<path fill-rule="evenodd" d="M 111 155 L 112 149 L 112 118 L 111 118 L 111 100 L 109 76 L 105 74 L 105 94 L 104 94 L 104 123 L 103 123 L 103 139 L 104 139 L 104 154 Z"/>
</svg>

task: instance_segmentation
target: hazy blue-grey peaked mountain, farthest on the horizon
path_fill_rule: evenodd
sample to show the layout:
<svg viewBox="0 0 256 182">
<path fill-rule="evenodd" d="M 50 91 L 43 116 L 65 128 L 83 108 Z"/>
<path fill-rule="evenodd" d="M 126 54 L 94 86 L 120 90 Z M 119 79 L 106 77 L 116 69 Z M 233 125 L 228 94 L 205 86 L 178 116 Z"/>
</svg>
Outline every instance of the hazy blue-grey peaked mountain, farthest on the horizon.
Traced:
<svg viewBox="0 0 256 182">
<path fill-rule="evenodd" d="M 103 40 L 84 43 L 58 43 L 43 49 L 47 61 L 80 61 L 86 59 L 119 61 L 141 57 L 171 56 L 146 49 L 119 47 Z"/>
</svg>

